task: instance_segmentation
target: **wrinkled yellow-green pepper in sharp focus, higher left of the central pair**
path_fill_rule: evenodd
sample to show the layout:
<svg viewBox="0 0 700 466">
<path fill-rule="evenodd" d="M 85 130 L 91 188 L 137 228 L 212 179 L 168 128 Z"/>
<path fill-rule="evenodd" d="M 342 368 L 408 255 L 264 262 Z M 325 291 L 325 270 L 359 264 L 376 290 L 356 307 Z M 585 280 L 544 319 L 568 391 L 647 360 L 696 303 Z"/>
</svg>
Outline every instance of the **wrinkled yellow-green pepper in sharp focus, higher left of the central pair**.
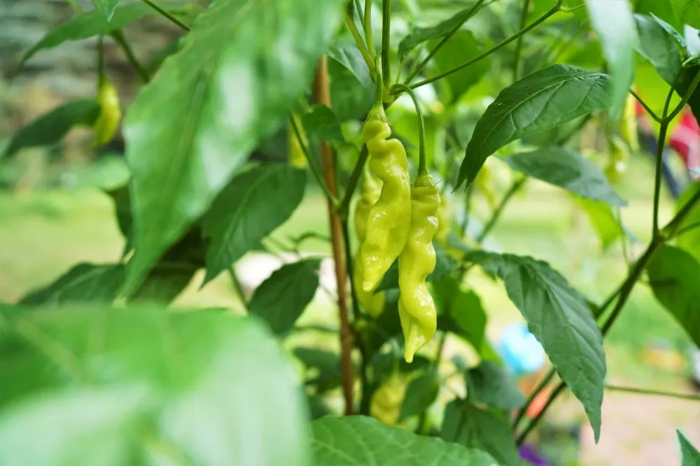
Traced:
<svg viewBox="0 0 700 466">
<path fill-rule="evenodd" d="M 360 245 L 363 291 L 377 288 L 384 273 L 401 254 L 411 224 L 411 181 L 406 150 L 398 139 L 387 139 L 391 128 L 381 102 L 370 110 L 362 128 L 372 175 L 381 180 L 379 199 L 367 215 L 367 233 Z"/>
</svg>

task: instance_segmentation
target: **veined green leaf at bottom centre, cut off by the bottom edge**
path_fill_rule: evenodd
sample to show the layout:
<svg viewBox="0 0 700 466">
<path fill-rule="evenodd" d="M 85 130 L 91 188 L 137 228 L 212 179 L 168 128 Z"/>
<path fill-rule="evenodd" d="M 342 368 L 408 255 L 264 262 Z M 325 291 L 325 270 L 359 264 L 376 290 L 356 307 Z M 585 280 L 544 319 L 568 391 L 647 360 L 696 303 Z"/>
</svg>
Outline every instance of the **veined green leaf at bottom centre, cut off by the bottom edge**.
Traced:
<svg viewBox="0 0 700 466">
<path fill-rule="evenodd" d="M 423 437 L 365 416 L 311 423 L 314 466 L 494 466 L 483 451 Z"/>
</svg>

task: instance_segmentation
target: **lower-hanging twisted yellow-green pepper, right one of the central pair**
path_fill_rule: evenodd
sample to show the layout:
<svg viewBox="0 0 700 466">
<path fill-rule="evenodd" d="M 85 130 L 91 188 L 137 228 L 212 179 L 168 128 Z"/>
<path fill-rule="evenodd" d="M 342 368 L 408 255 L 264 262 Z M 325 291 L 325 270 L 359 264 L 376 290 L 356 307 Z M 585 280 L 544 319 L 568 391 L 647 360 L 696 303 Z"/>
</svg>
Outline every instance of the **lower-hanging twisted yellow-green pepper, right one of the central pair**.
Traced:
<svg viewBox="0 0 700 466">
<path fill-rule="evenodd" d="M 416 178 L 411 190 L 411 226 L 406 247 L 398 258 L 398 315 L 405 341 L 404 358 L 413 361 L 416 351 L 435 335 L 437 312 L 426 277 L 435 269 L 433 237 L 437 232 L 440 194 L 429 173 Z"/>
</svg>

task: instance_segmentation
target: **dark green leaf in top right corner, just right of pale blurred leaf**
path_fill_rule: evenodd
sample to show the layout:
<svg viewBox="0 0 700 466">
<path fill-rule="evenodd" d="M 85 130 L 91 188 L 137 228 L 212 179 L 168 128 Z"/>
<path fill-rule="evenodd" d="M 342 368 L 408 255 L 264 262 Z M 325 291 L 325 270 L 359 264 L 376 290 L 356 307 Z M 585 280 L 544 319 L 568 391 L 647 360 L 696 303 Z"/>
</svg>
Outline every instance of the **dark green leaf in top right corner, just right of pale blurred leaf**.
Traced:
<svg viewBox="0 0 700 466">
<path fill-rule="evenodd" d="M 637 52 L 654 65 L 661 78 L 673 84 L 681 67 L 678 42 L 653 17 L 634 15 L 634 20 L 639 35 Z"/>
</svg>

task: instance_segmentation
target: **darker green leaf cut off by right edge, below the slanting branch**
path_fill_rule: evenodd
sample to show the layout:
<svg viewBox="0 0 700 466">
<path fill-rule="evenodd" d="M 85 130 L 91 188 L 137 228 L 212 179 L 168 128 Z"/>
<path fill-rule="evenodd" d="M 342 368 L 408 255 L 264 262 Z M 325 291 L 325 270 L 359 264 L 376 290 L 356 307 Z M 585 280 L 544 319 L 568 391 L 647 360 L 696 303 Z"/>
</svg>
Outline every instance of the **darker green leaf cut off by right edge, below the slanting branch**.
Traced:
<svg viewBox="0 0 700 466">
<path fill-rule="evenodd" d="M 700 346 L 700 263 L 684 250 L 664 245 L 652 257 L 647 272 L 659 303 Z"/>
</svg>

